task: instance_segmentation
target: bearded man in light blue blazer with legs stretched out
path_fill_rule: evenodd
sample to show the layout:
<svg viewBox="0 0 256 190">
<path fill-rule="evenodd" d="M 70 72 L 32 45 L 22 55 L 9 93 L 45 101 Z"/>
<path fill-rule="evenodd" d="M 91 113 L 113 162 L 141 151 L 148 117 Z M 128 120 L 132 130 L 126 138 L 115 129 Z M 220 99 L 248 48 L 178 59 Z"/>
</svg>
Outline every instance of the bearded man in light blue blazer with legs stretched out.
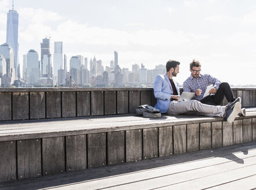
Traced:
<svg viewBox="0 0 256 190">
<path fill-rule="evenodd" d="M 226 106 L 207 105 L 197 100 L 178 101 L 179 84 L 172 78 L 179 73 L 179 64 L 178 61 L 169 60 L 166 63 L 166 74 L 156 77 L 153 88 L 157 103 L 154 107 L 161 113 L 178 115 L 195 111 L 198 115 L 223 117 L 228 123 L 232 123 L 241 109 L 240 97 Z"/>
</svg>

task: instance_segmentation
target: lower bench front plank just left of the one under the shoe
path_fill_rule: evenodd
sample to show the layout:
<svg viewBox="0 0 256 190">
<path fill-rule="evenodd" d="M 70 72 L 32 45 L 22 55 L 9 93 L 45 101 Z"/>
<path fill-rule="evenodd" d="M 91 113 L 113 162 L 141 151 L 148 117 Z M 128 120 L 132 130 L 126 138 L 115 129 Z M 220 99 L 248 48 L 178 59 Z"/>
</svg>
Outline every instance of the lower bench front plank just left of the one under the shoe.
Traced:
<svg viewBox="0 0 256 190">
<path fill-rule="evenodd" d="M 212 122 L 212 148 L 222 147 L 222 122 Z"/>
</svg>

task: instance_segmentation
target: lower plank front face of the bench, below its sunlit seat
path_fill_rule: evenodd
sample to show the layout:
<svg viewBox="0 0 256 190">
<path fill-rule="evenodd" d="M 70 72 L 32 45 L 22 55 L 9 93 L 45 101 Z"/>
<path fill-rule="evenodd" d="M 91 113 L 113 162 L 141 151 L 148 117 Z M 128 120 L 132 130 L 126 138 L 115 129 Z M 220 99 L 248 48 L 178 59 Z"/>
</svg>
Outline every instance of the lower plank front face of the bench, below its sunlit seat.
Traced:
<svg viewBox="0 0 256 190">
<path fill-rule="evenodd" d="M 83 95 L 84 96 L 84 95 Z M 99 92 L 96 96 L 102 96 Z M 136 96 L 136 95 L 135 95 Z M 0 142 L 0 181 L 48 176 L 256 140 L 256 118 Z"/>
</svg>

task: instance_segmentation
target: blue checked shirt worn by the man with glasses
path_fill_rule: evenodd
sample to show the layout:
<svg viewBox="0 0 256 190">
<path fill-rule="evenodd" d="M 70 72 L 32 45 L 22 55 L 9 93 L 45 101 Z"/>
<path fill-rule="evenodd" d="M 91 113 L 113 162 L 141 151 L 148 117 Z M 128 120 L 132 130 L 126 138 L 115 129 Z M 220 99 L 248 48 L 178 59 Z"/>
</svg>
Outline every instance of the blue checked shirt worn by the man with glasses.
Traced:
<svg viewBox="0 0 256 190">
<path fill-rule="evenodd" d="M 189 78 L 183 82 L 183 91 L 195 93 L 197 89 L 201 89 L 202 92 L 200 96 L 194 96 L 194 99 L 200 101 L 203 99 L 206 87 L 208 85 L 214 85 L 215 89 L 217 90 L 220 84 L 221 81 L 209 74 L 200 74 L 198 78 L 193 78 L 193 76 L 190 75 Z"/>
</svg>

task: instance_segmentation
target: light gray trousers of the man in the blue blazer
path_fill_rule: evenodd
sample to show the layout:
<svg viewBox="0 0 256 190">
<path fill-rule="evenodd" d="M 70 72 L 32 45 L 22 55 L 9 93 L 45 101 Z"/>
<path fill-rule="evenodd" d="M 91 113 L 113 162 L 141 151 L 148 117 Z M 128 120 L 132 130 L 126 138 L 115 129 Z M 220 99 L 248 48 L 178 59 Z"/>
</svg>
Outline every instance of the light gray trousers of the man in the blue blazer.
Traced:
<svg viewBox="0 0 256 190">
<path fill-rule="evenodd" d="M 205 116 L 219 116 L 222 117 L 225 113 L 225 106 L 221 105 L 207 105 L 197 100 L 190 101 L 171 101 L 167 114 L 178 115 L 178 114 L 191 114 L 194 111 L 196 115 Z"/>
</svg>

